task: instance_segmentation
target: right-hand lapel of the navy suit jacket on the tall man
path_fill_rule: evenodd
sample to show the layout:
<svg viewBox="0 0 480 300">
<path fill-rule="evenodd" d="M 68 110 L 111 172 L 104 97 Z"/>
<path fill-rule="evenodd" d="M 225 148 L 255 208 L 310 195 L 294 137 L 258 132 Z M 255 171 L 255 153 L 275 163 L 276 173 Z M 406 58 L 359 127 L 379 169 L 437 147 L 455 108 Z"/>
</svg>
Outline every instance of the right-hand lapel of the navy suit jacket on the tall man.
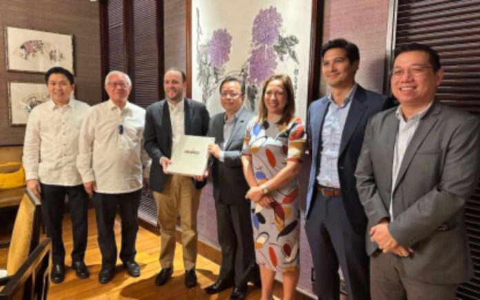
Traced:
<svg viewBox="0 0 480 300">
<path fill-rule="evenodd" d="M 357 91 L 355 91 L 354 96 L 352 97 L 352 103 L 350 104 L 350 110 L 348 111 L 347 119 L 345 121 L 345 126 L 343 127 L 343 133 L 341 134 L 340 141 L 340 150 L 339 156 L 345 151 L 348 142 L 353 136 L 353 133 L 357 129 L 357 126 L 365 113 L 366 105 L 366 94 L 365 89 L 360 85 L 357 86 Z"/>
</svg>

